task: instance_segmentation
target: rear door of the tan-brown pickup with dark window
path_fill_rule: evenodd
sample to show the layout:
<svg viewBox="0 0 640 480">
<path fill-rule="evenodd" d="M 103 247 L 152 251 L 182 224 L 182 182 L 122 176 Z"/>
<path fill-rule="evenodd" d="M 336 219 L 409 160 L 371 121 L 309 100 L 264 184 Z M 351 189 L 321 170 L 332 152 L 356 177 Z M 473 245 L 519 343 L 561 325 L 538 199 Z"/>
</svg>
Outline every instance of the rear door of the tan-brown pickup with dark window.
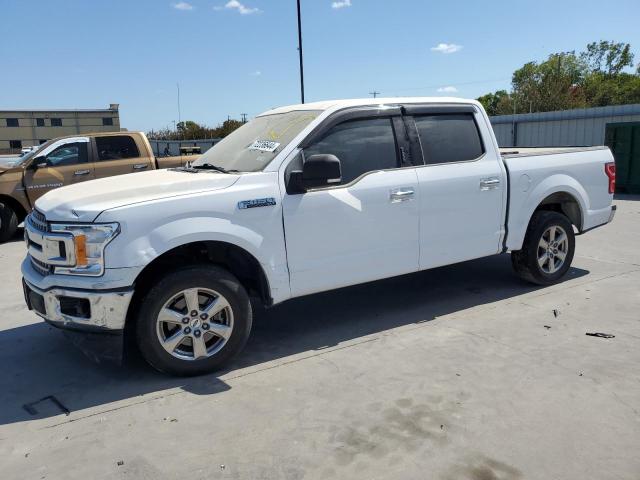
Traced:
<svg viewBox="0 0 640 480">
<path fill-rule="evenodd" d="M 153 170 L 153 156 L 132 135 L 105 135 L 93 138 L 96 178 Z"/>
</svg>

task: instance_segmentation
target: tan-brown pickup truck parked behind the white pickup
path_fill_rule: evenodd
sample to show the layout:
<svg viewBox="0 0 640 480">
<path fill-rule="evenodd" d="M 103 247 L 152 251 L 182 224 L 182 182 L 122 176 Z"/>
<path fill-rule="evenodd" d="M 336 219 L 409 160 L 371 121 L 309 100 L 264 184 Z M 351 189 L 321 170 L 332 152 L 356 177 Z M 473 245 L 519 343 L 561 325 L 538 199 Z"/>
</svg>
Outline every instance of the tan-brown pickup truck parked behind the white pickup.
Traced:
<svg viewBox="0 0 640 480">
<path fill-rule="evenodd" d="M 9 239 L 48 191 L 96 178 L 178 167 L 194 156 L 155 158 L 142 132 L 56 138 L 22 157 L 0 162 L 0 242 Z"/>
</svg>

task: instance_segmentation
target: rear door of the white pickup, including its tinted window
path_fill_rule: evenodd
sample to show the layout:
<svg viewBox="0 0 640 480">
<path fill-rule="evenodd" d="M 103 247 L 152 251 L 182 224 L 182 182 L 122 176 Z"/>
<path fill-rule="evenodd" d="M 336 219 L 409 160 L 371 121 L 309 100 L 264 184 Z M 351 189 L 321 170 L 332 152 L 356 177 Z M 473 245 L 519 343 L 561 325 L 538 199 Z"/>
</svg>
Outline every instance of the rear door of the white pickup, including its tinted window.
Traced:
<svg viewBox="0 0 640 480">
<path fill-rule="evenodd" d="M 407 107 L 424 158 L 420 186 L 420 268 L 498 253 L 504 172 L 475 107 Z"/>
</svg>

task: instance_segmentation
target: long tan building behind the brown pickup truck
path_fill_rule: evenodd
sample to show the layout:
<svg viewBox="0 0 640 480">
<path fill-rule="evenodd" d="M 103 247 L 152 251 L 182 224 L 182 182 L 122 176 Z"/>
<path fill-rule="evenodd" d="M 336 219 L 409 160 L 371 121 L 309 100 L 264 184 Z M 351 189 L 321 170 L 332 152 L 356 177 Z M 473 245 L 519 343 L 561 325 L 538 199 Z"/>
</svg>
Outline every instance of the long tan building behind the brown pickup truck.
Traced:
<svg viewBox="0 0 640 480">
<path fill-rule="evenodd" d="M 117 103 L 102 110 L 0 110 L 0 153 L 20 153 L 65 135 L 118 131 Z"/>
</svg>

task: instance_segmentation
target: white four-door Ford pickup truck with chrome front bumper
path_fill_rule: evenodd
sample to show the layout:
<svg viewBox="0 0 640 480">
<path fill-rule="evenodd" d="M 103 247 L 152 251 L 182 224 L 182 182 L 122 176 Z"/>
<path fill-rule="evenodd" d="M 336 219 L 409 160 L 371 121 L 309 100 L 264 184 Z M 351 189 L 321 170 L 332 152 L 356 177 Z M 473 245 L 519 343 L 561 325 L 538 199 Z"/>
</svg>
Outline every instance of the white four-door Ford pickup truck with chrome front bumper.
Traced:
<svg viewBox="0 0 640 480">
<path fill-rule="evenodd" d="M 265 112 L 189 167 L 51 191 L 25 222 L 29 308 L 95 358 L 135 339 L 193 375 L 244 346 L 250 297 L 293 297 L 511 252 L 549 285 L 611 221 L 606 147 L 500 152 L 475 101 L 338 100 Z"/>
</svg>

